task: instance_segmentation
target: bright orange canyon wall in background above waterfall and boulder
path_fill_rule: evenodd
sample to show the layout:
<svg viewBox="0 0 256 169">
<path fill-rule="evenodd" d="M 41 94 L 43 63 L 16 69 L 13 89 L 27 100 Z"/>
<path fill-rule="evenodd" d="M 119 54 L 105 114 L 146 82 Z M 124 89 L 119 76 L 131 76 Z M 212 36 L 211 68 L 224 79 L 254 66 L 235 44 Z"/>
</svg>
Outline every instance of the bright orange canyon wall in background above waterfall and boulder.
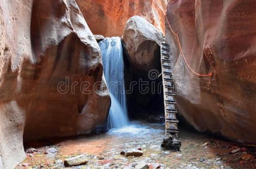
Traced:
<svg viewBox="0 0 256 169">
<path fill-rule="evenodd" d="M 165 31 L 167 0 L 76 0 L 92 33 L 121 36 L 126 21 L 139 15 Z"/>
</svg>

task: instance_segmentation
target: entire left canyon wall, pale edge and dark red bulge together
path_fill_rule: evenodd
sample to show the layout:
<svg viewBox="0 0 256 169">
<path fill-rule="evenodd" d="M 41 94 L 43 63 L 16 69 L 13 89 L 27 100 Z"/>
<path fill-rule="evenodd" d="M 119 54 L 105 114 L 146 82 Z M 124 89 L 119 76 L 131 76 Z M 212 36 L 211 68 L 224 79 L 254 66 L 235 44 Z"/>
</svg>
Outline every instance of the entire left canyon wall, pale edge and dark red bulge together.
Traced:
<svg viewBox="0 0 256 169">
<path fill-rule="evenodd" d="M 99 45 L 75 0 L 0 4 L 0 168 L 23 141 L 89 133 L 110 97 Z"/>
</svg>

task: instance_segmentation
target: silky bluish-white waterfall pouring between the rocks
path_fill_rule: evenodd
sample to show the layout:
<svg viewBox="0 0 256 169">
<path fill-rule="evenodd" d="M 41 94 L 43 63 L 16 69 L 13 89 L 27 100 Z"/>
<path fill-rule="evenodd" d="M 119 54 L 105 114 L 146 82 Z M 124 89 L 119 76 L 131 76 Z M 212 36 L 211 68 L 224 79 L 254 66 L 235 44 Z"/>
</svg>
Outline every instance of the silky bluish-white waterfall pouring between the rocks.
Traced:
<svg viewBox="0 0 256 169">
<path fill-rule="evenodd" d="M 124 83 L 123 47 L 119 37 L 105 38 L 99 42 L 107 87 L 110 92 L 111 107 L 108 123 L 111 128 L 129 125 Z"/>
</svg>

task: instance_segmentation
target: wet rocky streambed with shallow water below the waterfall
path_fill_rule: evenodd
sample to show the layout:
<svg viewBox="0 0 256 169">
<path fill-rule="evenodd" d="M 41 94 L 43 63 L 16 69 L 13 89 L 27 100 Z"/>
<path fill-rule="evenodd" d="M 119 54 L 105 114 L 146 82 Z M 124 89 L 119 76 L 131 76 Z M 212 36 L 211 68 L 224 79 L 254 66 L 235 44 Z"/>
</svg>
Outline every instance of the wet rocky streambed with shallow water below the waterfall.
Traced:
<svg viewBox="0 0 256 169">
<path fill-rule="evenodd" d="M 180 129 L 180 151 L 172 152 L 160 147 L 164 129 L 165 126 L 161 124 L 137 121 L 132 126 L 104 134 L 27 143 L 27 159 L 16 168 L 256 168 L 256 147 L 253 145 L 235 144 L 207 134 Z M 120 154 L 130 149 L 141 149 L 143 155 Z M 84 165 L 64 165 L 65 159 L 81 154 L 85 160 Z"/>
</svg>

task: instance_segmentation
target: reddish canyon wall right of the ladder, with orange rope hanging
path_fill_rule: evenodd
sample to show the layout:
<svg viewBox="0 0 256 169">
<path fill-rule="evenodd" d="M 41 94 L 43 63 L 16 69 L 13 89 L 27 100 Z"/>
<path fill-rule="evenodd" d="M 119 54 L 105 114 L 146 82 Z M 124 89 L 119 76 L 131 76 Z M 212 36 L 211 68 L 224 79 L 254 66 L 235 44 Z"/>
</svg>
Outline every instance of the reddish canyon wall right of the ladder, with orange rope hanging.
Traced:
<svg viewBox="0 0 256 169">
<path fill-rule="evenodd" d="M 178 110 L 199 131 L 256 143 L 256 3 L 170 0 L 171 46 Z M 209 76 L 200 74 L 213 73 Z"/>
</svg>

